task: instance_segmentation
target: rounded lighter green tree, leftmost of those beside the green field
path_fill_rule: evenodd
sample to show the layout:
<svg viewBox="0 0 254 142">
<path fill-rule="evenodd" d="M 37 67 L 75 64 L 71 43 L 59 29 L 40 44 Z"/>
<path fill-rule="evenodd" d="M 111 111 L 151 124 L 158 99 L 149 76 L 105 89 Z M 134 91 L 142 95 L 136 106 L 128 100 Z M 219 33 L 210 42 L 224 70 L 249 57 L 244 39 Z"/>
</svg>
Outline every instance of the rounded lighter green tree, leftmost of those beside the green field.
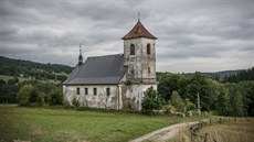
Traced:
<svg viewBox="0 0 254 142">
<path fill-rule="evenodd" d="M 21 106 L 28 106 L 30 94 L 33 91 L 33 86 L 31 85 L 24 85 L 20 88 L 18 92 L 18 101 Z"/>
</svg>

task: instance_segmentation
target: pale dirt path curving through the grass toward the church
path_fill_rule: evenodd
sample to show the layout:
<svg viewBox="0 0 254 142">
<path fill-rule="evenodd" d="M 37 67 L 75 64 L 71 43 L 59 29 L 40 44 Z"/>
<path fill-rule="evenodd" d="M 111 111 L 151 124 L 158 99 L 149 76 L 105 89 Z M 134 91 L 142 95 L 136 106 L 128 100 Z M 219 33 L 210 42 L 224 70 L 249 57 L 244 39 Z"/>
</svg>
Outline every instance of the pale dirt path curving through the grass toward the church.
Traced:
<svg viewBox="0 0 254 142">
<path fill-rule="evenodd" d="M 142 142 L 142 141 L 165 142 L 169 140 L 170 138 L 172 138 L 174 134 L 177 134 L 179 130 L 186 129 L 187 127 L 192 125 L 194 123 L 198 123 L 198 121 L 173 124 L 173 125 L 150 132 L 146 135 L 131 140 L 130 142 Z"/>
</svg>

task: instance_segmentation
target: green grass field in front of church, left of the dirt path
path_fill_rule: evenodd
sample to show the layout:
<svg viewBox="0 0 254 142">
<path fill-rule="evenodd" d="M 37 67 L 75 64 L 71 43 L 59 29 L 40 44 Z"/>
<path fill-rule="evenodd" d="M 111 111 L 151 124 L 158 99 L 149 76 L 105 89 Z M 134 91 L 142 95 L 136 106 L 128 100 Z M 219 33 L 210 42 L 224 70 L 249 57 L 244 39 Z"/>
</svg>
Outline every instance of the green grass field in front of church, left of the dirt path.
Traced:
<svg viewBox="0 0 254 142">
<path fill-rule="evenodd" d="M 129 141 L 192 119 L 0 105 L 0 141 Z"/>
</svg>

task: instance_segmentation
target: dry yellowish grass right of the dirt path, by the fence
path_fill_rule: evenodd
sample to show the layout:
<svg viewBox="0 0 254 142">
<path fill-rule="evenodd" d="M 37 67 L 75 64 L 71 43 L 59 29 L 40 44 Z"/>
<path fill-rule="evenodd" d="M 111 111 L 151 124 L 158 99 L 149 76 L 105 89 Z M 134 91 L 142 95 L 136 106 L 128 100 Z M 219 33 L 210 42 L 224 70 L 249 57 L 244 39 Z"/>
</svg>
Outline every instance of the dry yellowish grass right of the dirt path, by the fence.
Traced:
<svg viewBox="0 0 254 142">
<path fill-rule="evenodd" d="M 215 123 L 204 127 L 199 134 L 208 133 L 208 142 L 253 142 L 254 141 L 254 118 L 242 118 L 234 121 Z M 195 138 L 195 142 L 203 142 L 203 138 Z M 182 130 L 169 142 L 191 142 L 189 130 Z"/>
</svg>

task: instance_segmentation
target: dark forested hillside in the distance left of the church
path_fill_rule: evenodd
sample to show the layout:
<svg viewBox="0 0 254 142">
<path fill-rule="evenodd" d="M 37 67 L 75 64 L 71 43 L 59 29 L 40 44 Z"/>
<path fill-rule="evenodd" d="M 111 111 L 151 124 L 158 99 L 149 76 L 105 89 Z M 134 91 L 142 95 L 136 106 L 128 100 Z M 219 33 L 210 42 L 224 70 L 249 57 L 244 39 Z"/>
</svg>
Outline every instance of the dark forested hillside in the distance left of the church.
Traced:
<svg viewBox="0 0 254 142">
<path fill-rule="evenodd" d="M 0 75 L 6 76 L 64 80 L 72 69 L 66 65 L 43 64 L 0 56 Z"/>
</svg>

